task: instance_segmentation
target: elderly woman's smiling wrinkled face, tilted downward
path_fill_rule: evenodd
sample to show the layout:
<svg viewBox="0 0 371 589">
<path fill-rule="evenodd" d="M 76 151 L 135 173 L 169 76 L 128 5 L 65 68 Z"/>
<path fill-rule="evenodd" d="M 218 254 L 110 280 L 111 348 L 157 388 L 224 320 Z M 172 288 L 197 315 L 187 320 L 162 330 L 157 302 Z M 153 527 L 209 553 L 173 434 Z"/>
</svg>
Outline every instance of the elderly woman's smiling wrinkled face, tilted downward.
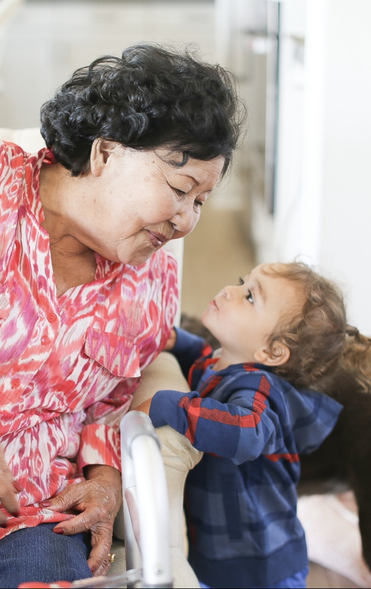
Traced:
<svg viewBox="0 0 371 589">
<path fill-rule="evenodd" d="M 94 142 L 95 143 L 95 142 Z M 224 158 L 190 159 L 175 167 L 166 150 L 93 145 L 84 218 L 84 243 L 114 262 L 141 264 L 166 241 L 195 227 Z M 172 161 L 182 161 L 182 155 Z"/>
</svg>

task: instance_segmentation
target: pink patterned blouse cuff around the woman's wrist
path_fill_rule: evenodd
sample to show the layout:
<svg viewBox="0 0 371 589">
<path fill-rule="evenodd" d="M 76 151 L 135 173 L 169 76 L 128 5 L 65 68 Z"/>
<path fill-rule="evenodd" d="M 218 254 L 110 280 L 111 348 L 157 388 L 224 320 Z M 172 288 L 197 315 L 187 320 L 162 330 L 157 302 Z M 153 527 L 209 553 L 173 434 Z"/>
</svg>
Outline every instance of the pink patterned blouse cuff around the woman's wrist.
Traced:
<svg viewBox="0 0 371 589">
<path fill-rule="evenodd" d="M 77 466 L 82 471 L 90 464 L 113 466 L 121 472 L 120 434 L 109 425 L 91 423 L 81 432 Z"/>
</svg>

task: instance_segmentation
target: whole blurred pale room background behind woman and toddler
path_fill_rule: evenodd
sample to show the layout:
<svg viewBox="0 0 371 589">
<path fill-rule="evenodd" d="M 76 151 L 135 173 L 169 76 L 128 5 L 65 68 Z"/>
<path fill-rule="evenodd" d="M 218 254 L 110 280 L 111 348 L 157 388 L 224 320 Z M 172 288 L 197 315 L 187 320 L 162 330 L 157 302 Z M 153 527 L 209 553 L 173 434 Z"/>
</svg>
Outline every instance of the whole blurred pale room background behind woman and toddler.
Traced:
<svg viewBox="0 0 371 589">
<path fill-rule="evenodd" d="M 255 263 L 316 264 L 371 335 L 369 0 L 0 0 L 0 127 L 39 124 L 75 68 L 145 42 L 234 72 L 247 133 L 186 237 L 182 310 Z"/>
</svg>

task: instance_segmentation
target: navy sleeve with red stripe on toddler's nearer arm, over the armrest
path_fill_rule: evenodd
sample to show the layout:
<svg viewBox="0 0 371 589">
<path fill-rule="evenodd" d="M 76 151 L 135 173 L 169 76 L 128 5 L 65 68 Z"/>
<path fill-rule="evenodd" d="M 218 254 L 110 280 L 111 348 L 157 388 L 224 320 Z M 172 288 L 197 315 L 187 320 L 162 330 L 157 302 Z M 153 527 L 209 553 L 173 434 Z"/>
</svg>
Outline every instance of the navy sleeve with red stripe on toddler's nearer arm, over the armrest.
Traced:
<svg viewBox="0 0 371 589">
<path fill-rule="evenodd" d="M 158 391 L 149 416 L 157 428 L 170 425 L 202 452 L 232 459 L 235 464 L 261 454 L 287 453 L 278 415 L 268 403 L 270 385 L 265 376 L 254 389 L 238 389 L 221 403 L 192 391 Z"/>
</svg>

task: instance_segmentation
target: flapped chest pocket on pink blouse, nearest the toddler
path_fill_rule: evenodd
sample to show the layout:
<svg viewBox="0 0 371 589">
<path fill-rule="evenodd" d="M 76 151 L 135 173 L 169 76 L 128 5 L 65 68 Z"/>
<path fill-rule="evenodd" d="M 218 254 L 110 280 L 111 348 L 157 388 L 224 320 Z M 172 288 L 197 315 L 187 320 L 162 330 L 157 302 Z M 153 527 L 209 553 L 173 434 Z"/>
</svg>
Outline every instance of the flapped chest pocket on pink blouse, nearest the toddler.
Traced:
<svg viewBox="0 0 371 589">
<path fill-rule="evenodd" d="M 125 337 L 88 327 L 84 350 L 114 376 L 140 376 L 139 348 Z"/>
</svg>

